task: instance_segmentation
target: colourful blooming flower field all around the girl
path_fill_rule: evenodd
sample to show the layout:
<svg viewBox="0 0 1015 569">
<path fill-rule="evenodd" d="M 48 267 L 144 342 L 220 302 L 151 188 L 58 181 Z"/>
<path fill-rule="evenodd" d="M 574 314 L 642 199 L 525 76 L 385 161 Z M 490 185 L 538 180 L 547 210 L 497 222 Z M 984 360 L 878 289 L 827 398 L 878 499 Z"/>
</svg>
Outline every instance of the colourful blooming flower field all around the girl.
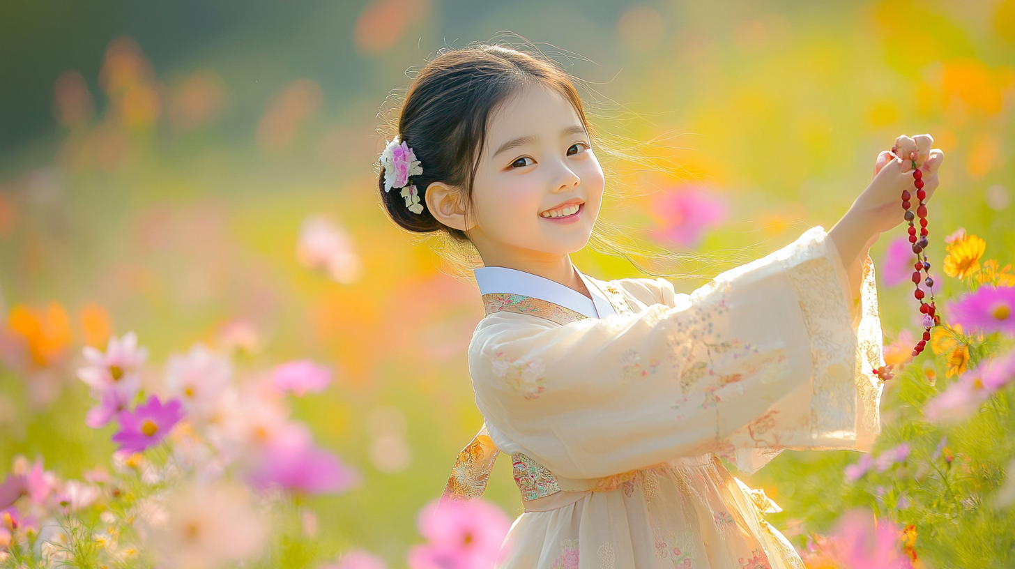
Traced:
<svg viewBox="0 0 1015 569">
<path fill-rule="evenodd" d="M 592 121 L 644 157 L 601 157 L 603 217 L 685 255 L 653 265 L 681 292 L 829 229 L 880 150 L 934 136 L 940 322 L 900 208 L 871 251 L 874 451 L 740 478 L 810 569 L 1015 567 L 1015 2 L 213 2 L 193 44 L 158 31 L 183 8 L 43 4 L 0 8 L 26 54 L 0 65 L 0 567 L 493 566 L 510 459 L 435 508 L 483 422 L 482 304 L 385 217 L 374 165 L 407 70 L 501 29 L 595 84 Z"/>
</svg>

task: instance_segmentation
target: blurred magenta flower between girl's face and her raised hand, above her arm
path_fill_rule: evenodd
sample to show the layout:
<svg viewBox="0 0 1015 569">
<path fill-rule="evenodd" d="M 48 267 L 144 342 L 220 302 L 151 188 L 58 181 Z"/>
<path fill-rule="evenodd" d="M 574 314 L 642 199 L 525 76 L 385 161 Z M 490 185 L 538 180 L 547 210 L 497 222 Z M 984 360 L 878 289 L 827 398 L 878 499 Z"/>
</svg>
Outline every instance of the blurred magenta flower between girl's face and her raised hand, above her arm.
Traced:
<svg viewBox="0 0 1015 569">
<path fill-rule="evenodd" d="M 651 209 L 663 237 L 683 247 L 696 246 L 707 230 L 726 219 L 726 213 L 723 198 L 693 186 L 660 194 Z"/>
</svg>

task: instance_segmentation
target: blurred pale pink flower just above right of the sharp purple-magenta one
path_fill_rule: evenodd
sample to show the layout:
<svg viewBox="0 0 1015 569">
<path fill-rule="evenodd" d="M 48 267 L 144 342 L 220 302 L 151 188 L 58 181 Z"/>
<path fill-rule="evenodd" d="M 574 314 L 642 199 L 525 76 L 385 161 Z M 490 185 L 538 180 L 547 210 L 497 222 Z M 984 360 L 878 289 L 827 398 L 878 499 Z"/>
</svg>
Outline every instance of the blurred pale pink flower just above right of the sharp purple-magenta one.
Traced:
<svg viewBox="0 0 1015 569">
<path fill-rule="evenodd" d="M 203 343 L 194 344 L 187 354 L 170 356 L 165 364 L 165 387 L 191 417 L 211 416 L 231 383 L 232 363 Z"/>
</svg>

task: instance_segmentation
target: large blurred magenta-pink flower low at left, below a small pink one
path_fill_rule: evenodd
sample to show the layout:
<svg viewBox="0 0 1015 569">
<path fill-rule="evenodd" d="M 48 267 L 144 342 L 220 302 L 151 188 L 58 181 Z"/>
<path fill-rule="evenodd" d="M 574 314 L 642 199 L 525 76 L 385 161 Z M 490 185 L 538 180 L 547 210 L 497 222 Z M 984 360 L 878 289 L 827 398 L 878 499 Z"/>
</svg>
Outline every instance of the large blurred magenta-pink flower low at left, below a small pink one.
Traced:
<svg viewBox="0 0 1015 569">
<path fill-rule="evenodd" d="M 359 482 L 355 470 L 334 454 L 316 448 L 310 436 L 265 447 L 250 482 L 260 489 L 282 488 L 303 494 L 345 492 Z"/>
</svg>

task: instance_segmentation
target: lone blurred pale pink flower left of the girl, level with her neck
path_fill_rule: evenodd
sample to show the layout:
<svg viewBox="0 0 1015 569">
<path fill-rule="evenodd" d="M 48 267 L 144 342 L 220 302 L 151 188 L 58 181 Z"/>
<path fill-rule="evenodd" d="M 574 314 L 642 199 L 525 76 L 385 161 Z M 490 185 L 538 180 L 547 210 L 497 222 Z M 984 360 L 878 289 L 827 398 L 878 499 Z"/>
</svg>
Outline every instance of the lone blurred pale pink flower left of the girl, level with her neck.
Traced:
<svg viewBox="0 0 1015 569">
<path fill-rule="evenodd" d="M 352 236 L 322 215 L 303 220 L 296 243 L 296 258 L 307 268 L 323 269 L 340 284 L 359 280 L 363 271 Z"/>
</svg>

